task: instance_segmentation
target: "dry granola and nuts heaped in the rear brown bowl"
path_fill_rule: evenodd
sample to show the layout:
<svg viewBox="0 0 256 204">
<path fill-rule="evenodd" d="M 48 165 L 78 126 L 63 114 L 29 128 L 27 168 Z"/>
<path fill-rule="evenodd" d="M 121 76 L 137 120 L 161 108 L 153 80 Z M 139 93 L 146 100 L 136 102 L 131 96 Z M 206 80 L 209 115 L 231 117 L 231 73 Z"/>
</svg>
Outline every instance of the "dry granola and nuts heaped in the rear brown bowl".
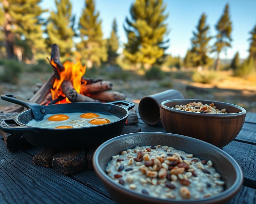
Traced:
<svg viewBox="0 0 256 204">
<path fill-rule="evenodd" d="M 216 108 L 216 106 L 214 105 L 214 103 L 211 103 L 210 105 L 205 104 L 203 105 L 201 102 L 193 102 L 193 103 L 188 103 L 186 105 L 175 105 L 175 107 L 172 107 L 178 110 L 182 110 L 182 111 L 190 111 L 190 112 L 196 112 L 196 113 L 226 113 L 227 114 L 227 110 L 226 108 L 223 108 L 221 110 L 219 110 L 218 108 Z"/>
</svg>

